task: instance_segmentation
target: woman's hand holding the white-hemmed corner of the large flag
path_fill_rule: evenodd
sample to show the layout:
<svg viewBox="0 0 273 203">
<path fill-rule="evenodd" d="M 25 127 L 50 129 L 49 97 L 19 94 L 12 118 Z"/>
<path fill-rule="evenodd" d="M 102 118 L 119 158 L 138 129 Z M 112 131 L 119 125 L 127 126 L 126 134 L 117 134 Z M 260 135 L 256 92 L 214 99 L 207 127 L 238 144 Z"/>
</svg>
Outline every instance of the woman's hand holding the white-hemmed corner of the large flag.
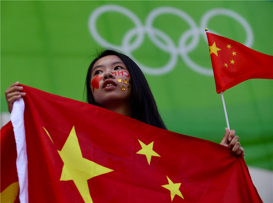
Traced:
<svg viewBox="0 0 273 203">
<path fill-rule="evenodd" d="M 8 102 L 8 112 L 10 113 L 12 111 L 13 102 L 25 96 L 25 92 L 20 92 L 23 87 L 19 86 L 19 84 L 19 82 L 15 82 L 5 91 L 6 100 Z"/>
</svg>

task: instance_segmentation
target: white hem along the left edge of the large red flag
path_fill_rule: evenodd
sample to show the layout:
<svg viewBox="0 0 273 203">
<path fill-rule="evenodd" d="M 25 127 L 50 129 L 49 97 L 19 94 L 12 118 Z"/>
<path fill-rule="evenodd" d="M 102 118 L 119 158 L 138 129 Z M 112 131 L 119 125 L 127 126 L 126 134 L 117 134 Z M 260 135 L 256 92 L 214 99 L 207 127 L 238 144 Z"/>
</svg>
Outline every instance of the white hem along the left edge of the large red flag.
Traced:
<svg viewBox="0 0 273 203">
<path fill-rule="evenodd" d="M 25 103 L 22 98 L 13 103 L 10 119 L 13 126 L 17 159 L 16 168 L 19 180 L 19 200 L 29 202 L 28 195 L 28 159 L 25 141 L 25 122 L 24 122 Z"/>
</svg>

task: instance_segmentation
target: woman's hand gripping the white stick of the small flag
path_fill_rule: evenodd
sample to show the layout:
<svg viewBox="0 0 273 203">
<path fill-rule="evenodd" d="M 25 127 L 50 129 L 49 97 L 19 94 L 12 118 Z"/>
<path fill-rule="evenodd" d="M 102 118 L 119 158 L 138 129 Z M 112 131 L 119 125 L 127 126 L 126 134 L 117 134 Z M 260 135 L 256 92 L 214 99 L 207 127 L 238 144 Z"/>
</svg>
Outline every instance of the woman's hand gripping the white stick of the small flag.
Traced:
<svg viewBox="0 0 273 203">
<path fill-rule="evenodd" d="M 235 130 L 229 131 L 227 128 L 225 130 L 225 135 L 221 141 L 221 145 L 229 147 L 232 154 L 243 155 L 244 156 L 244 148 L 241 147 L 241 144 L 238 142 L 239 137 L 235 135 Z"/>
</svg>

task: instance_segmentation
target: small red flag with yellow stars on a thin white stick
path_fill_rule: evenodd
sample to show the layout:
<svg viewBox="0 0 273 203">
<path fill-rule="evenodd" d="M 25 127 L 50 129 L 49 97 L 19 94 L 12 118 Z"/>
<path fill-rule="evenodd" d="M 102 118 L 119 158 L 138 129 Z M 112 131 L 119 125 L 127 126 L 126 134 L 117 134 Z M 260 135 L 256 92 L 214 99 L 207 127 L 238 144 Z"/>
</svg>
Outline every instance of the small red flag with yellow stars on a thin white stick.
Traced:
<svg viewBox="0 0 273 203">
<path fill-rule="evenodd" d="M 273 56 L 209 32 L 207 40 L 218 94 L 248 79 L 273 79 Z"/>
</svg>

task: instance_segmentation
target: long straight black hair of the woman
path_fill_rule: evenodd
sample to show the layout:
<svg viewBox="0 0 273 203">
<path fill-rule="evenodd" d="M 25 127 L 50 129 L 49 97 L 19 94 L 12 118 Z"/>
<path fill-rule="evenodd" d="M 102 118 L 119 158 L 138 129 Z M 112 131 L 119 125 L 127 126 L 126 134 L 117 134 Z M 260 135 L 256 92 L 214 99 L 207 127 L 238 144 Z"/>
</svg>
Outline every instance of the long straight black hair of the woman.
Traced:
<svg viewBox="0 0 273 203">
<path fill-rule="evenodd" d="M 86 102 L 88 102 L 89 104 L 99 106 L 94 100 L 92 90 L 90 87 L 91 71 L 97 60 L 108 55 L 116 55 L 120 57 L 120 59 L 128 68 L 128 71 L 130 72 L 131 76 L 130 85 L 132 86 L 130 108 L 132 109 L 132 118 L 147 123 L 151 126 L 167 129 L 158 112 L 156 102 L 153 98 L 153 94 L 150 90 L 149 84 L 144 74 L 142 73 L 138 65 L 130 57 L 116 50 L 113 49 L 100 50 L 99 53 L 97 54 L 97 57 L 90 64 L 87 71 L 85 84 Z"/>
</svg>

